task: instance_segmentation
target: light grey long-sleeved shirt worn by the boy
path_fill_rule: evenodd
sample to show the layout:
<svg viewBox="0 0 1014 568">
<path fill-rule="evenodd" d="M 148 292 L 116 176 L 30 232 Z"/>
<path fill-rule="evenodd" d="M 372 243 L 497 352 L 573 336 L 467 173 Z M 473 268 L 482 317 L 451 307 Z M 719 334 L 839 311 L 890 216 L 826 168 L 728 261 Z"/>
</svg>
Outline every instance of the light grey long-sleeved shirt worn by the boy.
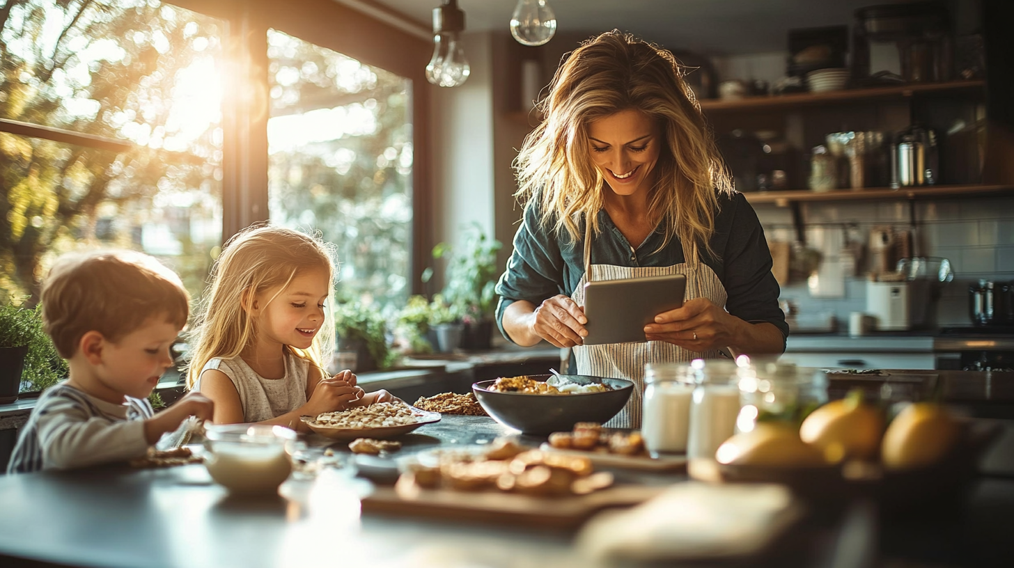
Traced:
<svg viewBox="0 0 1014 568">
<path fill-rule="evenodd" d="M 46 389 L 7 465 L 8 474 L 69 470 L 140 457 L 148 450 L 144 420 L 154 412 L 146 399 L 124 397 L 116 405 L 66 381 Z"/>
</svg>

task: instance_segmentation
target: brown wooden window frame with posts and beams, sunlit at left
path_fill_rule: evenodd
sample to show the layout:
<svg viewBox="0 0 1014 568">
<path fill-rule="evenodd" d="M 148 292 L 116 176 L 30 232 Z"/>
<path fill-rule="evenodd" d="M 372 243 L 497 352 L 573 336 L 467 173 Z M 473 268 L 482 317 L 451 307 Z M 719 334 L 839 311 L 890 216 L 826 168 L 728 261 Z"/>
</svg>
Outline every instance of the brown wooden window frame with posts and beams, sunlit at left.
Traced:
<svg viewBox="0 0 1014 568">
<path fill-rule="evenodd" d="M 430 88 L 425 69 L 432 46 L 333 0 L 164 0 L 220 19 L 226 72 L 222 99 L 222 241 L 268 220 L 268 29 L 334 50 L 412 81 L 412 230 L 410 293 L 423 291 L 422 274 L 434 244 Z M 252 90 L 249 88 L 252 86 Z M 114 151 L 123 140 L 0 119 L 0 132 Z"/>
</svg>

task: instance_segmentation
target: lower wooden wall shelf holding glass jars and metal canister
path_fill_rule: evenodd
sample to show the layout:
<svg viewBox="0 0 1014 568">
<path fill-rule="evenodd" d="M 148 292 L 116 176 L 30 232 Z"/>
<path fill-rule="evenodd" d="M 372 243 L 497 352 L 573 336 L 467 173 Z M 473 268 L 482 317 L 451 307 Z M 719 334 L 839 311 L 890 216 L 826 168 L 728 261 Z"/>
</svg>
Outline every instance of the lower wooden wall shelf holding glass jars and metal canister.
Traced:
<svg viewBox="0 0 1014 568">
<path fill-rule="evenodd" d="M 774 203 L 785 207 L 793 202 L 810 201 L 860 201 L 867 199 L 929 199 L 983 196 L 990 194 L 1014 195 L 1014 186 L 923 186 L 916 188 L 863 188 L 861 190 L 832 190 L 811 192 L 807 190 L 783 192 L 746 192 L 743 196 L 751 204 Z"/>
</svg>

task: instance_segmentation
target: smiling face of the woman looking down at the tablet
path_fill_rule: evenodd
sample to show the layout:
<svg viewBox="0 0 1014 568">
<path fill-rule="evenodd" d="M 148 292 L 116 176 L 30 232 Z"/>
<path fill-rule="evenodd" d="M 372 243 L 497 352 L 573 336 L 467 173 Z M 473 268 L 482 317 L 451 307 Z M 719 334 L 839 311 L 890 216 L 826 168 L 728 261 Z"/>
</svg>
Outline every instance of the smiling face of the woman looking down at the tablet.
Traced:
<svg viewBox="0 0 1014 568">
<path fill-rule="evenodd" d="M 588 146 L 591 161 L 617 195 L 651 189 L 662 140 L 648 115 L 631 109 L 588 123 Z"/>
</svg>

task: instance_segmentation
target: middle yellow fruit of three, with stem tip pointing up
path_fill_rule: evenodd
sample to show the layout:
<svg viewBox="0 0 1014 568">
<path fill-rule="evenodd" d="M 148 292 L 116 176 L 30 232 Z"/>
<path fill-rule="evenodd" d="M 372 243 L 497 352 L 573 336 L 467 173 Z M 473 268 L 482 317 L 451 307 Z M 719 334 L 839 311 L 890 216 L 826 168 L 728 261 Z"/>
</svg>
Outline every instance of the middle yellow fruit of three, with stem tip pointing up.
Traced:
<svg viewBox="0 0 1014 568">
<path fill-rule="evenodd" d="M 880 412 L 850 397 L 810 413 L 799 428 L 799 437 L 823 450 L 830 462 L 846 457 L 868 460 L 876 457 L 883 431 Z"/>
</svg>

